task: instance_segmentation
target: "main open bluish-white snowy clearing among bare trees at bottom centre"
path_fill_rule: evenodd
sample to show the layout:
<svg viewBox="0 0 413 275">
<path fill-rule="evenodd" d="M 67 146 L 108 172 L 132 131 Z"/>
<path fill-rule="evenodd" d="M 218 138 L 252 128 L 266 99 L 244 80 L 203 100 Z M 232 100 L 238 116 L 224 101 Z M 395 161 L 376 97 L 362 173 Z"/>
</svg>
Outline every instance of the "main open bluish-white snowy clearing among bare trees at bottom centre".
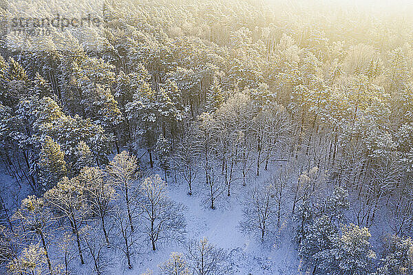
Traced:
<svg viewBox="0 0 413 275">
<path fill-rule="evenodd" d="M 238 228 L 242 219 L 242 205 L 234 199 L 231 207 L 211 210 L 201 206 L 201 199 L 196 195 L 186 195 L 184 186 L 171 188 L 170 196 L 187 206 L 187 234 L 188 239 L 199 240 L 206 236 L 209 241 L 229 252 L 229 264 L 233 268 L 231 274 L 277 275 L 298 274 L 298 263 L 295 249 L 290 241 L 279 247 L 268 248 L 271 245 L 262 245 L 254 237 L 246 236 Z M 279 241 L 281 243 L 281 241 Z M 284 241 L 283 241 L 284 242 Z M 126 272 L 126 274 L 141 274 L 147 268 L 157 271 L 157 265 L 169 259 L 173 251 L 184 252 L 182 245 L 172 245 L 162 248 L 162 251 L 148 255 L 140 267 Z M 154 274 L 157 274 L 154 272 Z"/>
</svg>

